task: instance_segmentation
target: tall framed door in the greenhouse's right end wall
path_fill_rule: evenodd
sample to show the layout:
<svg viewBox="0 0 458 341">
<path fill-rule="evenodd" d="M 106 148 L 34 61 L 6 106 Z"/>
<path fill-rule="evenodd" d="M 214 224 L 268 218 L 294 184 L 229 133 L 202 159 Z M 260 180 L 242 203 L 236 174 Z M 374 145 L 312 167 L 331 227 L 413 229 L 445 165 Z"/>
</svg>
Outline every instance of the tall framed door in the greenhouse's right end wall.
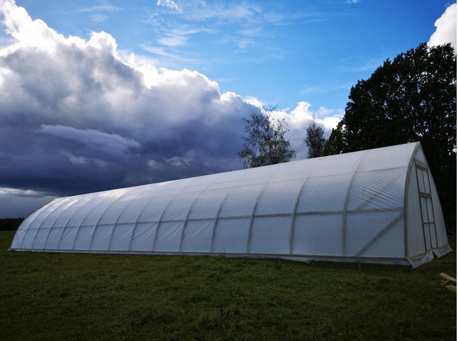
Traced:
<svg viewBox="0 0 458 341">
<path fill-rule="evenodd" d="M 431 199 L 431 186 L 429 180 L 428 169 L 416 165 L 417 181 L 418 181 L 418 194 L 420 196 L 421 217 L 423 218 L 423 233 L 425 237 L 426 251 L 436 249 L 437 234 L 436 224 L 434 221 L 434 209 Z"/>
</svg>

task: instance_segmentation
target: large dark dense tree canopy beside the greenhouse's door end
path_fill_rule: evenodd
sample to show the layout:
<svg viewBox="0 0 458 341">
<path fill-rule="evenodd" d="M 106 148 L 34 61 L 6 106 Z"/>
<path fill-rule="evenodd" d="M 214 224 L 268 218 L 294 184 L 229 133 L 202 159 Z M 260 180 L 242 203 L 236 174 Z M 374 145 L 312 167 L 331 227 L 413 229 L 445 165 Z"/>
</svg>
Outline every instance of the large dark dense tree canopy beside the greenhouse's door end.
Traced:
<svg viewBox="0 0 458 341">
<path fill-rule="evenodd" d="M 385 60 L 351 88 L 327 146 L 337 154 L 420 141 L 449 230 L 456 226 L 456 76 L 451 44 L 421 43 Z"/>
</svg>

